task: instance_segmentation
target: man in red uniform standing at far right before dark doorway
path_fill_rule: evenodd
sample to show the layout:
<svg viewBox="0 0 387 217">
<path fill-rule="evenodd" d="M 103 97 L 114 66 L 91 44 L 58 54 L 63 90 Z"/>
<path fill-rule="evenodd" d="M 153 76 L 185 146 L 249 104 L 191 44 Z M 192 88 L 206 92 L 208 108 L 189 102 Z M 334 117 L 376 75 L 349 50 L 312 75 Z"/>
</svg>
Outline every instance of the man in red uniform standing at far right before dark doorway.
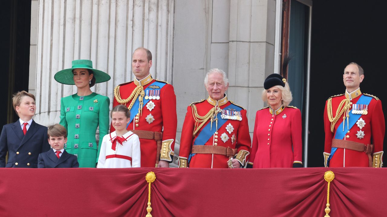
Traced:
<svg viewBox="0 0 387 217">
<path fill-rule="evenodd" d="M 325 166 L 382 167 L 384 115 L 380 100 L 360 92 L 364 71 L 356 63 L 344 69 L 344 94 L 325 103 Z"/>
</svg>

